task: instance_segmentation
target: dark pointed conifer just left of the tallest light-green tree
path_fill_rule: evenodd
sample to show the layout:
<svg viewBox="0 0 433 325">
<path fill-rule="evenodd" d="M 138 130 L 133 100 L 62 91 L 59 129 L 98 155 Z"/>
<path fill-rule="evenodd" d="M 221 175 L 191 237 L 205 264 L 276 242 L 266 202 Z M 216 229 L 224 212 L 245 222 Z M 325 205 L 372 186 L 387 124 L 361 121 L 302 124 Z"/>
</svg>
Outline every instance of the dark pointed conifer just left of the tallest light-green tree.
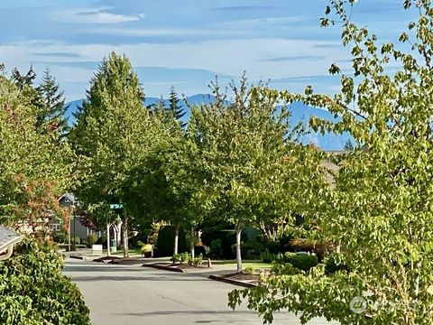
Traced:
<svg viewBox="0 0 433 325">
<path fill-rule="evenodd" d="M 59 128 L 60 134 L 65 134 L 68 129 L 68 121 L 65 112 L 65 97 L 60 91 L 56 79 L 52 77 L 50 69 L 43 72 L 41 85 L 36 88 L 41 97 L 41 113 L 38 116 L 38 125 L 49 125 L 51 128 Z"/>
</svg>

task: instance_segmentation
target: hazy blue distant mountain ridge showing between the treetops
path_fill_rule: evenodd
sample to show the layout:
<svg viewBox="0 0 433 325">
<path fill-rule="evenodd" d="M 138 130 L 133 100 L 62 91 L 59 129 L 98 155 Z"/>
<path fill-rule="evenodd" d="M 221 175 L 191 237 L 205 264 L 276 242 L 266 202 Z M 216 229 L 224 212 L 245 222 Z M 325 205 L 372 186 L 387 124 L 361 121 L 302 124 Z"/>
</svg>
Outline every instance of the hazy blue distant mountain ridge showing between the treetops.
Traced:
<svg viewBox="0 0 433 325">
<path fill-rule="evenodd" d="M 152 104 L 158 103 L 160 100 L 161 98 L 151 97 L 151 98 L 146 98 L 144 103 L 146 106 L 150 106 Z M 189 105 L 209 104 L 212 103 L 214 100 L 215 97 L 210 94 L 197 94 L 187 98 Z M 83 99 L 78 99 L 78 100 L 71 101 L 67 104 L 69 107 L 66 111 L 66 117 L 69 121 L 69 124 L 71 125 L 74 124 L 75 118 L 73 114 L 78 110 L 78 107 L 82 105 L 82 102 Z M 164 103 L 168 105 L 169 100 L 164 99 Z M 180 100 L 180 105 L 183 106 L 187 111 L 185 116 L 182 117 L 182 121 L 187 122 L 191 114 L 191 112 L 189 111 L 189 107 L 186 106 L 183 100 Z M 311 116 L 318 116 L 319 118 L 327 119 L 329 121 L 337 120 L 331 113 L 329 113 L 325 109 L 308 107 L 301 103 L 291 104 L 290 110 L 291 110 L 291 118 L 290 118 L 291 125 L 297 125 L 299 124 L 299 122 L 308 125 L 309 118 Z M 318 133 L 311 132 L 309 133 L 309 135 L 304 135 L 301 138 L 303 144 L 311 144 L 311 143 L 316 144 L 322 150 L 329 150 L 329 151 L 343 150 L 347 140 L 352 140 L 352 137 L 346 133 L 342 135 L 333 135 L 333 134 L 321 135 Z"/>
</svg>

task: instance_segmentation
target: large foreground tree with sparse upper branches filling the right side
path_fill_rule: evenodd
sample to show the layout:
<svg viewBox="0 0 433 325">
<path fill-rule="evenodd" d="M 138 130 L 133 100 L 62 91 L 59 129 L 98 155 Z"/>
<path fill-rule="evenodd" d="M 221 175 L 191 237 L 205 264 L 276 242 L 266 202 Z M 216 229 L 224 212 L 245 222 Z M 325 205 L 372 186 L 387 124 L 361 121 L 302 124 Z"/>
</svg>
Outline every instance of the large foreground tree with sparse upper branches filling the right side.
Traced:
<svg viewBox="0 0 433 325">
<path fill-rule="evenodd" d="M 296 274 L 278 266 L 260 288 L 231 293 L 232 307 L 244 295 L 265 322 L 281 310 L 302 311 L 302 323 L 318 316 L 341 324 L 433 322 L 433 8 L 428 1 L 403 2 L 419 18 L 401 33 L 411 46 L 398 49 L 350 21 L 345 13 L 353 3 L 331 1 L 327 14 L 337 17 L 322 20 L 342 21 L 343 43 L 351 45 L 353 74 L 342 75 L 342 92 L 334 98 L 310 87 L 304 95 L 285 93 L 341 116 L 336 123 L 311 120 L 315 130 L 348 132 L 364 145 L 347 154 L 333 173 L 334 186 L 317 191 L 304 210 L 316 229 L 309 237 L 340 246 L 328 256 L 340 270 L 327 274 L 318 265 Z M 389 72 L 390 64 L 398 69 Z M 340 70 L 332 65 L 330 72 Z"/>
</svg>

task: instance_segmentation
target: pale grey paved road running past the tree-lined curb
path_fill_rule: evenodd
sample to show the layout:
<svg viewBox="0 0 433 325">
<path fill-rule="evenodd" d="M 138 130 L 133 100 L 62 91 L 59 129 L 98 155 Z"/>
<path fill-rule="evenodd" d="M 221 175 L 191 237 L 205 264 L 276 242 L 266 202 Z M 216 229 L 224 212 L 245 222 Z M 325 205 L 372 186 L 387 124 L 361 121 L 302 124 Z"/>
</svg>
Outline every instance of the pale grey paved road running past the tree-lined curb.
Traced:
<svg viewBox="0 0 433 325">
<path fill-rule="evenodd" d="M 227 307 L 227 292 L 235 287 L 199 274 L 177 274 L 131 265 L 101 265 L 67 260 L 65 274 L 84 294 L 94 325 L 259 325 L 246 308 Z M 298 325 L 281 313 L 274 324 Z M 329 324 L 316 320 L 310 324 Z"/>
</svg>

